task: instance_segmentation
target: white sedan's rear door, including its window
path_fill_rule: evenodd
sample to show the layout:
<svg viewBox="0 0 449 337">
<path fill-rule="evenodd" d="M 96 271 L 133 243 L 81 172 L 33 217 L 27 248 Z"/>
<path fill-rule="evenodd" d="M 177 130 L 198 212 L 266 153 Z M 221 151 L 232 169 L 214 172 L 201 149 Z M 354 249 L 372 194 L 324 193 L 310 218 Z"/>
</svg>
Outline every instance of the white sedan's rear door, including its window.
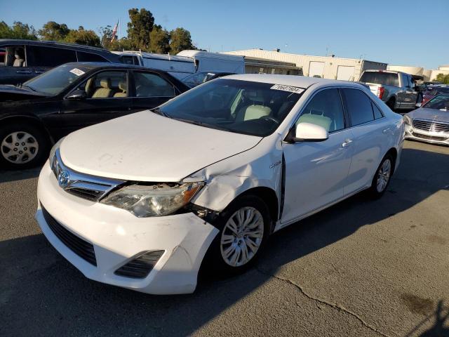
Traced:
<svg viewBox="0 0 449 337">
<path fill-rule="evenodd" d="M 386 152 L 385 140 L 393 130 L 389 129 L 387 118 L 377 105 L 362 90 L 343 88 L 342 94 L 354 140 L 351 167 L 344 187 L 344 194 L 348 195 L 371 184 Z"/>
</svg>

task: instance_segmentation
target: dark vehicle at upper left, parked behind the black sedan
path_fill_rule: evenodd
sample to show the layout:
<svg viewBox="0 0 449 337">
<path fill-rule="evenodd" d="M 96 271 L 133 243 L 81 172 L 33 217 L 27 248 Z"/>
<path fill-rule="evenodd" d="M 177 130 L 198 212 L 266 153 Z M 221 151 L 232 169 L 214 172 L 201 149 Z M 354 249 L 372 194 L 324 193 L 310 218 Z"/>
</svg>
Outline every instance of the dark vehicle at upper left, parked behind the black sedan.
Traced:
<svg viewBox="0 0 449 337">
<path fill-rule="evenodd" d="M 121 62 L 121 58 L 79 44 L 0 39 L 0 84 L 21 84 L 67 62 Z"/>
</svg>

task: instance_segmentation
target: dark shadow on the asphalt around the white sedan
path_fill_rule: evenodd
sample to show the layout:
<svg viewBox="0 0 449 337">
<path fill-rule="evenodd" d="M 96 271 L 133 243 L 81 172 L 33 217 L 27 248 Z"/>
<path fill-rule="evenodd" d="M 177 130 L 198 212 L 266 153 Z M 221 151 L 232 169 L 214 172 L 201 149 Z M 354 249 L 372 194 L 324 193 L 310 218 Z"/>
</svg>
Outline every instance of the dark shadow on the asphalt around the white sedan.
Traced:
<svg viewBox="0 0 449 337">
<path fill-rule="evenodd" d="M 400 169 L 382 199 L 372 201 L 366 194 L 357 194 L 290 225 L 273 235 L 254 268 L 227 279 L 203 275 L 189 295 L 152 296 L 93 282 L 62 258 L 43 234 L 0 242 L 4 320 L 0 335 L 192 334 L 263 286 L 283 265 L 349 237 L 363 226 L 375 226 L 447 188 L 447 158 L 443 153 L 404 149 Z M 442 311 L 438 317 L 447 319 Z"/>
</svg>

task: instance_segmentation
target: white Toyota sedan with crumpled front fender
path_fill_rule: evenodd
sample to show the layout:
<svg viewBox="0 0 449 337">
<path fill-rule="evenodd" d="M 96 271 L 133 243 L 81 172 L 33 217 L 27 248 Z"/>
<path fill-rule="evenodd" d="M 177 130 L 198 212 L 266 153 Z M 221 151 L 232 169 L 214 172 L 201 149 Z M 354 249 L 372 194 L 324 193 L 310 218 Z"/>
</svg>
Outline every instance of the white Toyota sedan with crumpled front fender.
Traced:
<svg viewBox="0 0 449 337">
<path fill-rule="evenodd" d="M 272 232 L 361 190 L 382 196 L 403 133 L 402 117 L 360 84 L 215 79 L 60 140 L 36 219 L 88 278 L 190 293 L 200 265 L 241 272 Z"/>
</svg>

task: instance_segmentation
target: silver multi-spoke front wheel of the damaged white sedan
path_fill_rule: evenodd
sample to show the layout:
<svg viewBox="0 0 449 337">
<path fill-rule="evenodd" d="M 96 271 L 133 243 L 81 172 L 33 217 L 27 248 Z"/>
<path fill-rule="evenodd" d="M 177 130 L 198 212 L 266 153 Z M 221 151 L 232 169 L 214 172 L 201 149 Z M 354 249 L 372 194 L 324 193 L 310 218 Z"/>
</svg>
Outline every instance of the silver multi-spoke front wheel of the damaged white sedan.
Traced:
<svg viewBox="0 0 449 337">
<path fill-rule="evenodd" d="M 222 230 L 220 251 L 225 263 L 239 267 L 257 253 L 264 236 L 264 219 L 254 207 L 243 207 L 227 220 Z"/>
</svg>

